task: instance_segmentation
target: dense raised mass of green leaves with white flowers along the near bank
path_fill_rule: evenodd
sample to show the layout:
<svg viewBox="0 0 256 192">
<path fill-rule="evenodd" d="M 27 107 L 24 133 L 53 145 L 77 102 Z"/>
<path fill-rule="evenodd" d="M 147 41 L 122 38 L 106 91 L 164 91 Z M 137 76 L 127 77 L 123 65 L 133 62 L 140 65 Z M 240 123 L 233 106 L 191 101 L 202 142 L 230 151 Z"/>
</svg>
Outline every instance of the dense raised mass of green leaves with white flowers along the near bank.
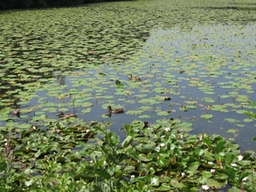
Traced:
<svg viewBox="0 0 256 192">
<path fill-rule="evenodd" d="M 74 118 L 74 117 L 72 117 Z M 71 119 L 72 119 L 71 118 Z M 70 119 L 47 129 L 2 130 L 0 189 L 44 191 L 253 191 L 253 154 L 218 135 L 192 135 L 175 119 L 123 125 Z M 35 139 L 37 138 L 37 139 Z"/>
</svg>

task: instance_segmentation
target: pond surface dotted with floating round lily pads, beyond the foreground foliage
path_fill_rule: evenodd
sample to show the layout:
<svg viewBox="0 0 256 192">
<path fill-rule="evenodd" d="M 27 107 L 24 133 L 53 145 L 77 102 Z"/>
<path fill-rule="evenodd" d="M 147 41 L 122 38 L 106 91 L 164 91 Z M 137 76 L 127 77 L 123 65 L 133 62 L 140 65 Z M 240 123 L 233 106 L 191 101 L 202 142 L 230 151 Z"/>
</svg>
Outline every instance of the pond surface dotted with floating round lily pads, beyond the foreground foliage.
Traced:
<svg viewBox="0 0 256 192">
<path fill-rule="evenodd" d="M 247 99 L 256 102 L 255 11 L 163 5 L 0 15 L 1 128 L 44 126 L 63 111 L 78 113 L 76 122 L 112 121 L 123 140 L 123 124 L 173 118 L 183 131 L 220 134 L 254 150 L 256 123 L 243 110 L 253 110 Z M 125 113 L 108 118 L 108 105 Z M 14 108 L 20 119 L 9 114 Z"/>
</svg>

